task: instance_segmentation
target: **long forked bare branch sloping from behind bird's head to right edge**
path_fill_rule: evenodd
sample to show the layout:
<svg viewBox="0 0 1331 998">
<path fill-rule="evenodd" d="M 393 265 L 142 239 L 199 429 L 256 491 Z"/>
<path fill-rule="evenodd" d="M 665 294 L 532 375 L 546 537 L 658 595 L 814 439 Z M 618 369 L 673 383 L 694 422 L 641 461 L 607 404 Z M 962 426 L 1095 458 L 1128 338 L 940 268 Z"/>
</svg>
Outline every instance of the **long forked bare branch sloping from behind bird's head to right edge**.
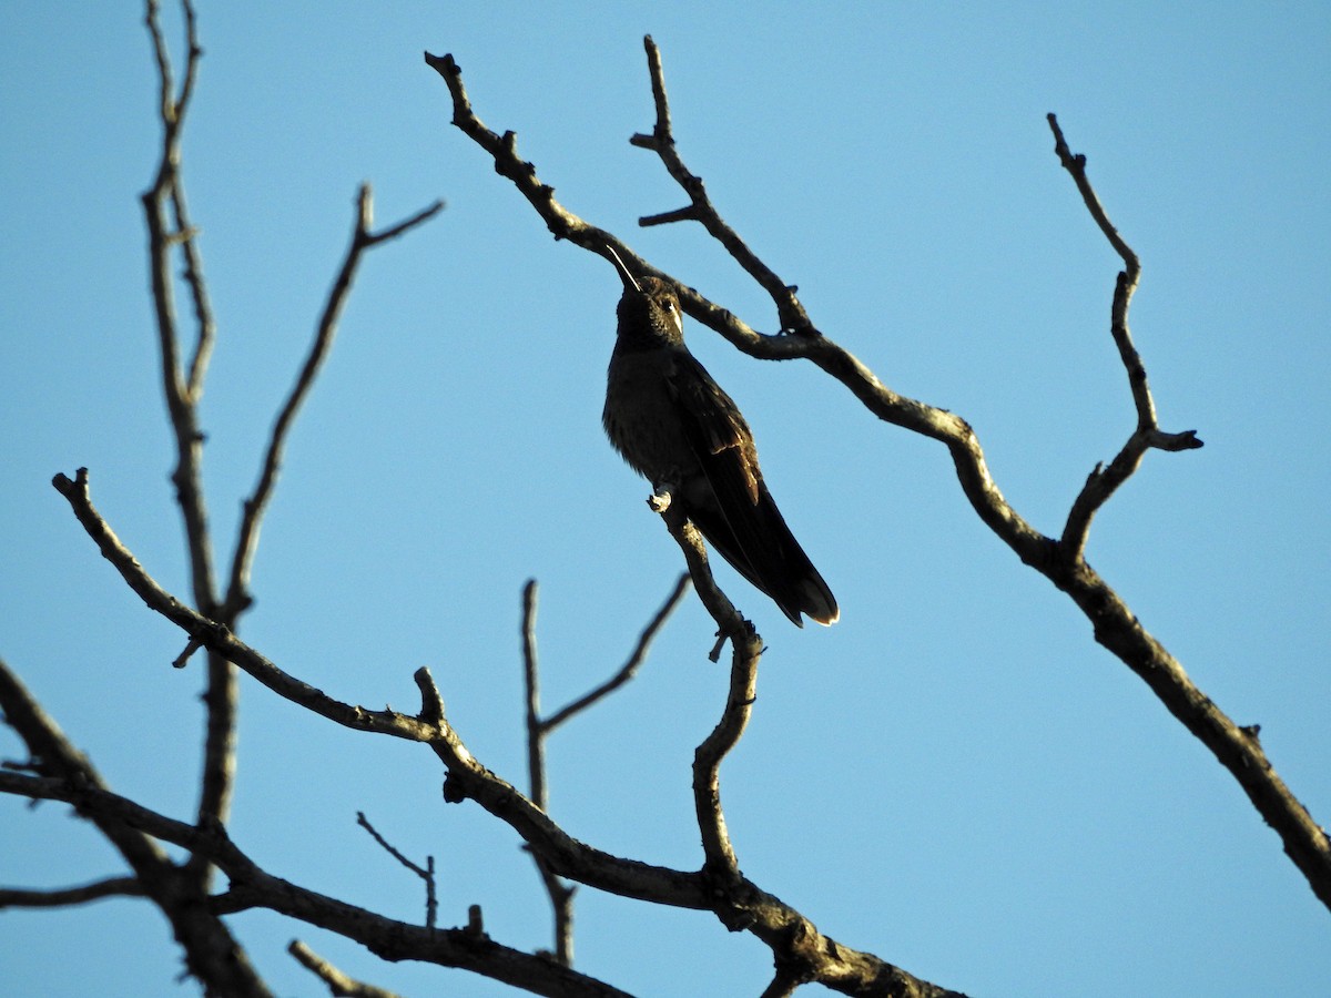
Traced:
<svg viewBox="0 0 1331 998">
<path fill-rule="evenodd" d="M 672 176 L 679 173 L 676 181 L 691 198 L 687 217 L 696 217 L 709 233 L 713 230 L 725 232 L 724 222 L 705 197 L 701 181 L 684 168 L 681 160 L 677 160 L 673 141 L 669 138 L 669 113 L 659 68 L 659 52 L 650 41 L 647 51 L 654 100 L 658 105 L 658 124 L 651 137 L 638 137 L 634 141 L 638 145 L 652 148 L 663 156 L 663 160 L 668 160 L 667 169 L 671 170 Z M 1079 558 L 1081 538 L 1085 532 L 1082 524 L 1089 524 L 1090 515 L 1103 502 L 1098 490 L 1113 484 L 1119 475 L 1126 478 L 1123 471 L 1130 474 L 1135 467 L 1139 459 L 1138 450 L 1145 451 L 1146 447 L 1187 450 L 1199 446 L 1194 432 L 1162 434 L 1158 430 L 1151 430 L 1142 432 L 1135 442 L 1130 439 L 1125 452 L 1121 454 L 1123 464 L 1105 472 L 1101 482 L 1089 482 L 1083 495 L 1078 498 L 1081 506 L 1069 516 L 1071 528 L 1065 530 L 1069 543 L 1063 544 L 1049 538 L 1036 530 L 1004 498 L 989 471 L 978 436 L 965 419 L 944 409 L 900 395 L 886 387 L 862 362 L 828 339 L 812 321 L 807 319 L 803 307 L 796 310 L 797 301 L 793 297 L 792 286 L 780 281 L 772 282 L 769 278 L 760 281 L 769 294 L 777 290 L 777 285 L 785 289 L 777 290 L 777 294 L 773 295 L 781 329 L 799 331 L 800 335 L 764 335 L 755 331 L 727 309 L 697 294 L 685 282 L 656 270 L 632 254 L 614 236 L 588 225 L 556 202 L 552 188 L 539 184 L 535 180 L 535 168 L 518 157 L 512 133 L 506 133 L 504 138 L 500 140 L 475 116 L 462 85 L 462 72 L 457 61 L 451 56 L 433 56 L 430 53 L 426 53 L 425 59 L 443 77 L 453 94 L 453 124 L 491 156 L 496 173 L 514 182 L 556 237 L 567 238 L 595 253 L 600 253 L 600 246 L 614 246 L 620 257 L 632 261 L 636 271 L 664 277 L 675 285 L 684 309 L 693 318 L 719 331 L 737 349 L 761 359 L 799 357 L 812 361 L 841 382 L 865 409 L 884 422 L 946 446 L 961 490 L 976 515 L 1025 564 L 1041 572 L 1073 599 L 1091 623 L 1095 640 L 1131 668 L 1166 708 L 1230 770 L 1256 810 L 1280 836 L 1284 852 L 1307 877 L 1314 893 L 1324 905 L 1331 906 L 1331 840 L 1275 773 L 1256 739 L 1247 733 L 1251 728 L 1240 728 L 1219 711 L 1210 697 L 1193 684 L 1178 660 L 1146 631 L 1118 593 Z M 1073 173 L 1075 177 L 1075 169 Z M 1098 200 L 1094 204 L 1098 204 Z M 1099 217 L 1103 217 L 1102 210 Z M 1105 220 L 1105 225 L 1107 226 L 1107 220 Z M 1113 232 L 1111 226 L 1109 226 L 1109 232 Z M 716 236 L 716 238 L 727 246 L 731 245 L 728 237 Z M 1114 240 L 1118 240 L 1115 248 L 1122 246 L 1122 250 L 1126 251 L 1125 261 L 1127 261 L 1129 267 L 1125 273 L 1129 273 L 1133 269 L 1131 261 L 1135 259 L 1135 255 L 1117 237 L 1117 233 L 1111 242 Z M 752 261 L 747 262 L 743 255 L 736 258 L 741 266 L 753 273 Z M 1135 286 L 1135 278 L 1131 274 L 1130 278 L 1122 278 L 1115 291 L 1115 301 L 1121 302 L 1121 305 L 1115 303 L 1115 314 L 1123 318 L 1121 326 L 1115 326 L 1115 342 L 1119 343 L 1121 354 L 1129 367 L 1129 378 L 1139 413 L 1149 413 L 1153 423 L 1154 403 L 1149 409 L 1145 405 L 1150 399 L 1146 391 L 1145 371 L 1142 370 L 1141 377 L 1134 374 L 1139 369 L 1139 358 L 1134 363 L 1135 350 L 1131 349 L 1131 341 L 1126 335 L 1126 306 L 1130 291 Z M 1101 472 L 1093 474 L 1093 479 L 1098 476 Z M 1069 560 L 1066 554 L 1069 550 L 1078 551 L 1078 556 Z M 695 584 L 699 584 L 697 572 L 693 572 L 693 580 Z M 699 585 L 699 595 L 707 603 L 709 595 L 713 593 L 705 592 Z M 724 607 L 713 608 L 712 604 L 708 604 L 708 609 L 719 620 L 729 619 Z"/>
</svg>

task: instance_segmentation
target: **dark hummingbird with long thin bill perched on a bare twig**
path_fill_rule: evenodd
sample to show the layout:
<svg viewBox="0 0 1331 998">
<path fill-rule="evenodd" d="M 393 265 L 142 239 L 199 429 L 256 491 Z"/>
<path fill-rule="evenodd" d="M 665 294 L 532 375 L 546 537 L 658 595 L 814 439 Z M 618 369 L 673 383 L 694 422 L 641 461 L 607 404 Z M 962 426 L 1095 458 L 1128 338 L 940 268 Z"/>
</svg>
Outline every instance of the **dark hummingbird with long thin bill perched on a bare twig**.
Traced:
<svg viewBox="0 0 1331 998">
<path fill-rule="evenodd" d="M 800 613 L 836 623 L 836 597 L 767 491 L 748 423 L 684 346 L 675 289 L 635 278 L 606 249 L 624 282 L 602 414 L 610 442 L 797 627 Z"/>
</svg>

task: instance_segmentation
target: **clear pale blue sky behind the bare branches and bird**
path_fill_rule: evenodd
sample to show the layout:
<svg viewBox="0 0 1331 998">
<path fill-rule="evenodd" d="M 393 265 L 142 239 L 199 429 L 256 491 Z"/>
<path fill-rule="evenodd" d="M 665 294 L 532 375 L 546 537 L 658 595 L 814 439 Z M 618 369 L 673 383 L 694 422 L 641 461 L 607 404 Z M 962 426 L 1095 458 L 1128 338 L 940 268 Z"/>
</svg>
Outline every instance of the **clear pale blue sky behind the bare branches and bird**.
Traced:
<svg viewBox="0 0 1331 998">
<path fill-rule="evenodd" d="M 1326 4 L 200 8 L 185 177 L 220 323 L 202 415 L 221 558 L 357 185 L 382 224 L 449 201 L 365 262 L 291 439 L 242 624 L 284 668 L 415 709 L 429 664 L 471 750 L 524 782 L 522 583 L 542 585 L 551 707 L 618 668 L 669 589 L 677 551 L 599 426 L 618 282 L 449 125 L 421 59 L 457 56 L 478 113 L 571 210 L 772 331 L 699 228 L 636 229 L 683 204 L 626 141 L 652 121 L 651 32 L 680 149 L 725 217 L 884 382 L 970 420 L 1046 532 L 1134 420 L 1107 330 L 1117 258 L 1053 156 L 1058 113 L 1143 261 L 1131 319 L 1162 426 L 1206 440 L 1149 455 L 1089 558 L 1331 821 Z M 49 486 L 88 466 L 120 536 L 186 593 L 137 201 L 158 134 L 141 13 L 0 8 L 0 653 L 117 790 L 186 818 L 201 671 L 170 668 L 180 633 Z M 796 631 L 723 576 L 769 645 L 723 769 L 744 872 L 839 941 L 976 995 L 1324 994 L 1331 917 L 1275 834 L 982 527 L 944 448 L 809 365 L 687 331 L 843 607 Z M 700 862 L 688 764 L 725 683 L 711 635 L 691 597 L 642 677 L 554 737 L 551 810 L 572 834 Z M 548 945 L 515 834 L 446 806 L 429 753 L 250 681 L 242 699 L 233 836 L 256 860 L 421 918 L 365 810 L 437 857 L 442 923 L 480 904 L 499 941 Z M 0 756 L 23 756 L 8 731 Z M 5 885 L 121 870 L 60 806 L 0 800 L 0 841 Z M 407 995 L 502 993 L 273 915 L 233 925 L 284 995 L 321 993 L 282 953 L 293 937 Z M 642 994 L 757 994 L 769 975 L 765 947 L 708 914 L 587 889 L 576 947 Z M 133 901 L 3 913 L 0 967 L 12 994 L 193 993 Z"/>
</svg>

